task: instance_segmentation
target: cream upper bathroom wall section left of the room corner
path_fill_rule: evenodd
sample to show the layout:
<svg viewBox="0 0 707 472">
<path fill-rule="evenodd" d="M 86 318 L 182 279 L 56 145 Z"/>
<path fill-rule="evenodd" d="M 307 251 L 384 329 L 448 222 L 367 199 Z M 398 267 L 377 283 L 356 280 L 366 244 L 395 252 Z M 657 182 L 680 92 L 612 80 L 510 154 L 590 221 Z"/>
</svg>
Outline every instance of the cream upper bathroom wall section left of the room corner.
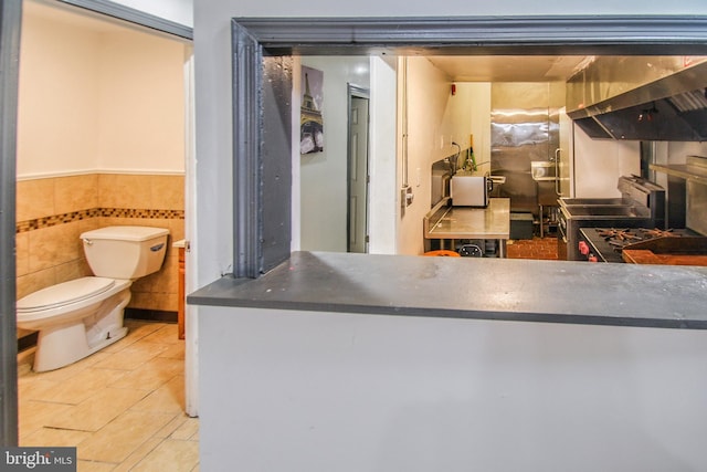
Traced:
<svg viewBox="0 0 707 472">
<path fill-rule="evenodd" d="M 95 168 L 99 57 L 95 33 L 31 14 L 25 8 L 20 51 L 19 178 Z"/>
</svg>

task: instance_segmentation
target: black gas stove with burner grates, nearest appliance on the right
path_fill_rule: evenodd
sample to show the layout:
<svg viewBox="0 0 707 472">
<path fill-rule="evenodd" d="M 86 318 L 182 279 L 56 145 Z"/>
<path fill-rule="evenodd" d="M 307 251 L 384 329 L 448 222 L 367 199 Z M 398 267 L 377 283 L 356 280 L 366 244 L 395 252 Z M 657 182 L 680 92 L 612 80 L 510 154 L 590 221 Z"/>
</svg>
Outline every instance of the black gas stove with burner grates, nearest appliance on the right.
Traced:
<svg viewBox="0 0 707 472">
<path fill-rule="evenodd" d="M 646 228 L 580 228 L 579 233 L 578 249 L 581 260 L 590 262 L 623 262 L 623 248 L 642 241 L 700 235 L 690 229 Z"/>
</svg>

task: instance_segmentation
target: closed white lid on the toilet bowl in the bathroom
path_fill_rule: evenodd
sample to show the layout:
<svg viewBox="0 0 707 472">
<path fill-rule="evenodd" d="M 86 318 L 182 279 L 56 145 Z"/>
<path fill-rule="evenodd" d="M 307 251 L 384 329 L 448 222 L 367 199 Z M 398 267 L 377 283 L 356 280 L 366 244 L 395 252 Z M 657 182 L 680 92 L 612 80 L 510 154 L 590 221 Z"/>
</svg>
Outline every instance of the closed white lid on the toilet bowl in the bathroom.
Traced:
<svg viewBox="0 0 707 472">
<path fill-rule="evenodd" d="M 18 301 L 19 312 L 49 310 L 59 305 L 78 302 L 107 291 L 115 280 L 106 277 L 83 277 L 48 286 Z"/>
</svg>

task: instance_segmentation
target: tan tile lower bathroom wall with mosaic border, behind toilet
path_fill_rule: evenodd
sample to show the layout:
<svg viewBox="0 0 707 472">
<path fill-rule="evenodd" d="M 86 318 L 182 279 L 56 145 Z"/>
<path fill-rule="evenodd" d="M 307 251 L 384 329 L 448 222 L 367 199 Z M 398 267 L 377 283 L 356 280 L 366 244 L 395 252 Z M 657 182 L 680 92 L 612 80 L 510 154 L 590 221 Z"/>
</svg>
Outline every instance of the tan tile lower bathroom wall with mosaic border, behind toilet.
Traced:
<svg viewBox="0 0 707 472">
<path fill-rule="evenodd" d="M 177 311 L 178 251 L 184 238 L 184 177 L 88 174 L 17 182 L 17 296 L 84 275 L 78 239 L 113 224 L 168 228 L 162 269 L 133 284 L 128 307 Z"/>
</svg>

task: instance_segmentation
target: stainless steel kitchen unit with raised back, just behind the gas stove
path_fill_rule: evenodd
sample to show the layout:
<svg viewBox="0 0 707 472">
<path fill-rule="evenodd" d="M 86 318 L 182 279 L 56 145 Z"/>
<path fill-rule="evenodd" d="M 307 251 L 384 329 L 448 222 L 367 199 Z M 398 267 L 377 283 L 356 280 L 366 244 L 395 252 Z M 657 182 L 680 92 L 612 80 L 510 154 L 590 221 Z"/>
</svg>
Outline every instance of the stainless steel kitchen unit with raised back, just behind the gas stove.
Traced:
<svg viewBox="0 0 707 472">
<path fill-rule="evenodd" d="M 558 258 L 581 261 L 580 228 L 665 228 L 665 190 L 641 177 L 622 176 L 621 199 L 560 198 Z"/>
</svg>

